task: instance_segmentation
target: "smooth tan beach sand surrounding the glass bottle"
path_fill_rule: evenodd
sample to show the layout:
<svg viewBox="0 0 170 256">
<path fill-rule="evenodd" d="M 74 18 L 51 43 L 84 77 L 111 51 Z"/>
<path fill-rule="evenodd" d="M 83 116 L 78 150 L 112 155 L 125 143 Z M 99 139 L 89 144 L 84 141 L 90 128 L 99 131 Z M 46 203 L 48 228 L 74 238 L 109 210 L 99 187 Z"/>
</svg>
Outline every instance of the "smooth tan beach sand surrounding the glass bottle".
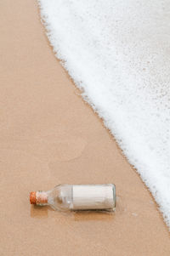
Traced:
<svg viewBox="0 0 170 256">
<path fill-rule="evenodd" d="M 2 0 L 0 17 L 0 255 L 169 255 L 156 203 L 55 59 L 37 3 Z M 115 183 L 116 213 L 30 206 L 59 183 Z"/>
</svg>

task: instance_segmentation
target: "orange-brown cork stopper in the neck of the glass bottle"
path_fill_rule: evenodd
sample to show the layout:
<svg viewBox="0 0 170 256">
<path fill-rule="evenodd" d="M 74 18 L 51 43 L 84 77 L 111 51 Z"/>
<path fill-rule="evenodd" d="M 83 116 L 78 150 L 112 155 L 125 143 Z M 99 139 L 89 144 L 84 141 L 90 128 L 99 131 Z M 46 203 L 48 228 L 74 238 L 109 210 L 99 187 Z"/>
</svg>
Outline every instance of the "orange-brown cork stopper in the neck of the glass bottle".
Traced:
<svg viewBox="0 0 170 256">
<path fill-rule="evenodd" d="M 31 204 L 47 204 L 48 203 L 48 194 L 45 191 L 33 191 L 30 193 L 30 203 Z"/>
</svg>

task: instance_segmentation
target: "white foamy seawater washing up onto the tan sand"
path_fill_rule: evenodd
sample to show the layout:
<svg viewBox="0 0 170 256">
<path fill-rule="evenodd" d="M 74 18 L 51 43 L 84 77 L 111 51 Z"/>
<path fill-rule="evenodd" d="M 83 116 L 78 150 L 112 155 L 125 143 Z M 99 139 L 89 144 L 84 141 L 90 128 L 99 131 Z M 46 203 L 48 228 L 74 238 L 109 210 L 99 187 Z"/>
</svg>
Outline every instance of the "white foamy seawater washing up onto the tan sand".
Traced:
<svg viewBox="0 0 170 256">
<path fill-rule="evenodd" d="M 48 38 L 170 225 L 170 4 L 39 0 Z"/>
</svg>

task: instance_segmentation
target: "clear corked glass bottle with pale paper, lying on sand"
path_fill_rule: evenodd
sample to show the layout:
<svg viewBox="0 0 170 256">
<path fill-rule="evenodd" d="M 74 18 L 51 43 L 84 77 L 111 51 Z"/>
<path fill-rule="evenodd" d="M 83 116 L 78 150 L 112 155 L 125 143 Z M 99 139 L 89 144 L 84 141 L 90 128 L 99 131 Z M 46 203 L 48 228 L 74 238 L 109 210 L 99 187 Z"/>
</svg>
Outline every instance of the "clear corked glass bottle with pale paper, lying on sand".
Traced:
<svg viewBox="0 0 170 256">
<path fill-rule="evenodd" d="M 30 193 L 31 204 L 49 205 L 59 211 L 105 210 L 116 208 L 116 186 L 57 185 L 52 191 Z"/>
</svg>

